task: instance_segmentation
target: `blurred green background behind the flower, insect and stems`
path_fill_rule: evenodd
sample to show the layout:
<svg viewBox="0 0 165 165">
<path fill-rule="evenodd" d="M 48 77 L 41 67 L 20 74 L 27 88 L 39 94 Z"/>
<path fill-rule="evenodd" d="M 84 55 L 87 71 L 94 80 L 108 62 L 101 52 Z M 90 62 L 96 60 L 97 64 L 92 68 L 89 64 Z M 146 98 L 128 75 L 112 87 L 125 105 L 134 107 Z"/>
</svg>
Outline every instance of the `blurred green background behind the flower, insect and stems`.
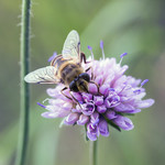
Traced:
<svg viewBox="0 0 165 165">
<path fill-rule="evenodd" d="M 102 165 L 163 165 L 165 162 L 165 1 L 164 0 L 33 0 L 31 21 L 31 70 L 48 65 L 53 52 L 61 53 L 73 29 L 81 50 L 99 58 L 100 40 L 107 57 L 130 69 L 127 75 L 148 78 L 146 98 L 155 105 L 131 119 L 134 130 L 121 133 L 110 128 L 99 138 L 98 161 Z M 0 1 L 0 165 L 13 165 L 20 117 L 20 14 L 21 0 Z M 36 102 L 53 85 L 31 85 L 30 145 L 26 165 L 85 165 L 89 143 L 82 128 L 64 127 L 59 119 L 44 119 Z"/>
</svg>

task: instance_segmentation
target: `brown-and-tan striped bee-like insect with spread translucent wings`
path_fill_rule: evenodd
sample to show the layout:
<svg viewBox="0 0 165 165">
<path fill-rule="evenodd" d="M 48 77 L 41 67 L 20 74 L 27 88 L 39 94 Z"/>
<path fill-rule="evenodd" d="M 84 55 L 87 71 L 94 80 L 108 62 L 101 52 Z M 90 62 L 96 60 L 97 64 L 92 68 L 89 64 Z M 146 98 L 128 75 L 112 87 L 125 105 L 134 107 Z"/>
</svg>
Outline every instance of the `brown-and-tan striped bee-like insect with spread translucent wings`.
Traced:
<svg viewBox="0 0 165 165">
<path fill-rule="evenodd" d="M 26 82 L 36 84 L 64 84 L 66 89 L 74 92 L 88 92 L 88 84 L 95 81 L 90 80 L 87 72 L 91 68 L 84 70 L 81 63 L 87 64 L 86 55 L 80 52 L 80 41 L 77 31 L 73 30 L 67 35 L 62 54 L 52 59 L 51 66 L 38 68 L 24 77 Z M 98 87 L 98 85 L 96 84 Z M 66 96 L 68 98 L 68 96 Z"/>
</svg>

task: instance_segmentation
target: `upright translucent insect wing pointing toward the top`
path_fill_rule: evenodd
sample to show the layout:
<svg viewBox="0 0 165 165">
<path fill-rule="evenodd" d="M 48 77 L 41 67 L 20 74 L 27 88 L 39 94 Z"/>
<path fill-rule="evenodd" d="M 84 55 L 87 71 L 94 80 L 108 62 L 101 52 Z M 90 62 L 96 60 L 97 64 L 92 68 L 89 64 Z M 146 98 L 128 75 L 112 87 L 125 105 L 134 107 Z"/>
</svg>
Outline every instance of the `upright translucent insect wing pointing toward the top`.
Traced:
<svg viewBox="0 0 165 165">
<path fill-rule="evenodd" d="M 66 59 L 76 58 L 79 61 L 80 41 L 77 31 L 73 30 L 69 32 L 65 40 L 62 54 Z"/>
</svg>

